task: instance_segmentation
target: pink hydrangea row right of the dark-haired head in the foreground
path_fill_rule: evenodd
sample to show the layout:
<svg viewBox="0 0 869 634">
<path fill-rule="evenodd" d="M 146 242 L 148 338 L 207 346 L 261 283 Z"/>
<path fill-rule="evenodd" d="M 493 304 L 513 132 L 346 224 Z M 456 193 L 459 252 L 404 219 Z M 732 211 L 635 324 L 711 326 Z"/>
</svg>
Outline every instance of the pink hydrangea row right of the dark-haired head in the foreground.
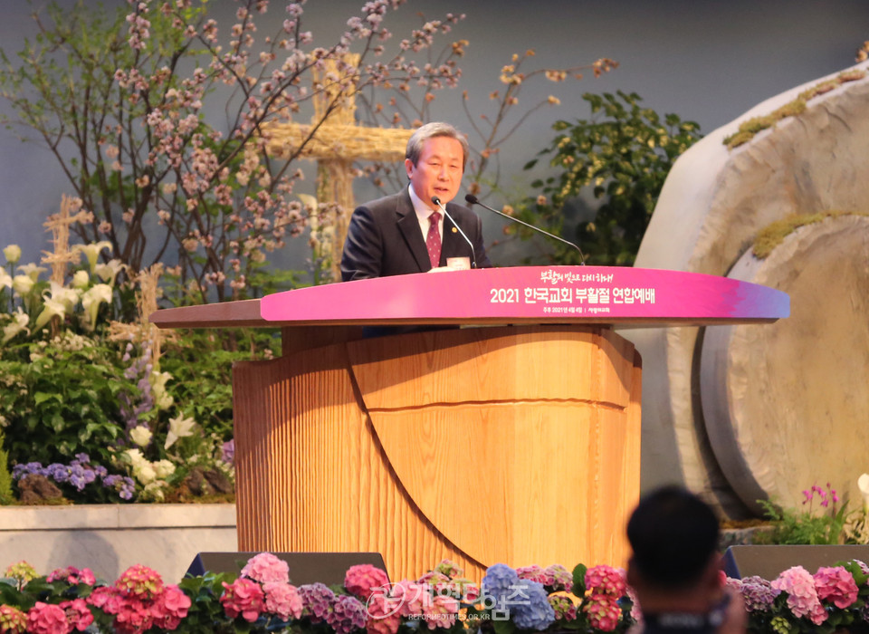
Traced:
<svg viewBox="0 0 869 634">
<path fill-rule="evenodd" d="M 772 581 L 754 576 L 727 583 L 741 592 L 752 632 L 795 634 L 869 626 L 869 566 L 864 562 L 821 567 L 815 574 L 794 566 Z"/>
</svg>

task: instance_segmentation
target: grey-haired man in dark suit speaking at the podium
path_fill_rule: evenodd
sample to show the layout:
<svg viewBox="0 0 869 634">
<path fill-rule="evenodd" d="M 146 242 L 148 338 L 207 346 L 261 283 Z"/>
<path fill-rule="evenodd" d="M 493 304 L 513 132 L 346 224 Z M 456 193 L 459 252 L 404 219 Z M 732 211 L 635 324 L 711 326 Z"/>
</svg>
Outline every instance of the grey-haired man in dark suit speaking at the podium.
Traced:
<svg viewBox="0 0 869 634">
<path fill-rule="evenodd" d="M 405 159 L 410 185 L 358 207 L 350 217 L 341 278 L 349 282 L 425 273 L 446 266 L 452 258 L 467 258 L 477 268 L 491 266 L 482 244 L 480 218 L 450 202 L 462 186 L 467 159 L 467 140 L 448 123 L 427 123 L 416 130 L 407 142 Z M 432 202 L 433 197 L 458 227 Z"/>
</svg>

